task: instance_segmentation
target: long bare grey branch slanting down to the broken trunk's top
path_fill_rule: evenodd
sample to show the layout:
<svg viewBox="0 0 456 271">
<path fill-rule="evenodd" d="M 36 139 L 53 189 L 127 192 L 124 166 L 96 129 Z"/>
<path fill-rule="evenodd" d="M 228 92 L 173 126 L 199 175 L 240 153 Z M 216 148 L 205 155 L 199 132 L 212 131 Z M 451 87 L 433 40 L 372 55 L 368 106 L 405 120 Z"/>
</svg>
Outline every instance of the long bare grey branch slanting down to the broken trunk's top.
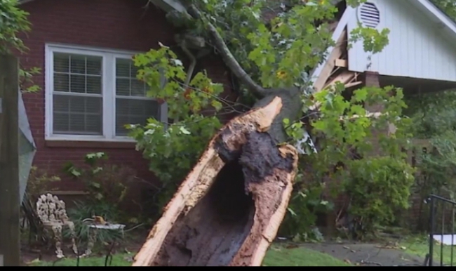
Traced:
<svg viewBox="0 0 456 271">
<path fill-rule="evenodd" d="M 189 15 L 194 19 L 204 20 L 201 12 L 194 5 L 190 5 L 189 8 L 187 8 L 187 13 L 189 13 Z M 231 51 L 229 51 L 227 44 L 224 43 L 222 36 L 220 36 L 215 26 L 207 20 L 205 21 L 208 33 L 210 34 L 210 37 L 212 37 L 215 43 L 215 47 L 218 51 L 220 51 L 220 55 L 222 55 L 222 58 L 227 67 L 229 67 L 229 70 L 231 70 L 233 74 L 239 79 L 239 81 L 245 84 L 247 88 L 252 91 L 252 93 L 258 98 L 263 98 L 266 96 L 267 90 L 253 81 L 247 72 L 243 70 L 241 65 L 239 65 L 239 62 L 237 62 L 236 58 L 234 58 L 234 55 L 231 53 Z"/>
</svg>

